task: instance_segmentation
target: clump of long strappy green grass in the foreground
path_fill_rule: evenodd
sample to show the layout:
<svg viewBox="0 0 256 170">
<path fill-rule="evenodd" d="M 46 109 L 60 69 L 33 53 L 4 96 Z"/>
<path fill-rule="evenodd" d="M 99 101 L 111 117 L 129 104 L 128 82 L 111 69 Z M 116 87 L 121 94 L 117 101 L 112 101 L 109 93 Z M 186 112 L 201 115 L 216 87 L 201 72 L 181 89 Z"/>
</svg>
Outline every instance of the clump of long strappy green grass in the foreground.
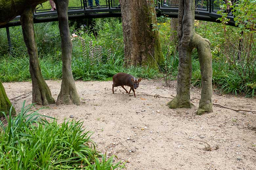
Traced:
<svg viewBox="0 0 256 170">
<path fill-rule="evenodd" d="M 25 101 L 16 117 L 4 113 L 7 126 L 0 121 L 0 169 L 122 169 L 123 163 L 113 163 L 113 156 L 96 151 L 90 139 L 92 132 L 82 129 L 83 122 L 56 119 L 33 111 Z M 43 108 L 41 108 L 43 109 Z M 48 122 L 46 118 L 52 119 Z"/>
</svg>

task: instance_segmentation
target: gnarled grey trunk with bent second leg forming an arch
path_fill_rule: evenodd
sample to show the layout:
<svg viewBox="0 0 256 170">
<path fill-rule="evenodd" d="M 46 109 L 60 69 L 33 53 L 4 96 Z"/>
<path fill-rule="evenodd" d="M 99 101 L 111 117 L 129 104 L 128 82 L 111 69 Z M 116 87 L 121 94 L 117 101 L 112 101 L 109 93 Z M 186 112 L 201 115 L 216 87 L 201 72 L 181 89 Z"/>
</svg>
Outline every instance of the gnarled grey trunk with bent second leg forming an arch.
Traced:
<svg viewBox="0 0 256 170">
<path fill-rule="evenodd" d="M 192 71 L 191 54 L 197 48 L 202 76 L 202 92 L 197 114 L 212 112 L 212 56 L 210 42 L 195 33 L 195 0 L 181 0 L 178 15 L 179 69 L 175 98 L 169 108 L 191 108 L 190 79 Z"/>
</svg>

